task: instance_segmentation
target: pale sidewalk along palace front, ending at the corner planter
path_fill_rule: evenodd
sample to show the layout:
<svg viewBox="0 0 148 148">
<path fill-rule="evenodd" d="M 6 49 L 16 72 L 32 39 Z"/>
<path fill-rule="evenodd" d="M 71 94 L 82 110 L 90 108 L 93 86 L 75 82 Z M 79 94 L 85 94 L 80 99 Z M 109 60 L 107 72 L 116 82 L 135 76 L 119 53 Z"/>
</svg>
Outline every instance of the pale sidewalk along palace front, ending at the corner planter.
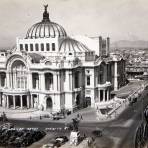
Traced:
<svg viewBox="0 0 148 148">
<path fill-rule="evenodd" d="M 81 110 L 78 110 L 77 112 L 72 113 L 71 115 L 66 116 L 65 119 L 60 119 L 60 120 L 52 120 L 50 118 L 43 118 L 40 119 L 40 116 L 44 115 L 50 115 L 49 112 L 47 111 L 40 111 L 36 109 L 26 109 L 26 110 L 14 110 L 14 109 L 6 109 L 3 107 L 0 107 L 0 114 L 3 112 L 6 113 L 6 116 L 10 119 L 25 119 L 25 120 L 32 120 L 32 121 L 45 121 L 45 122 L 61 122 L 61 123 L 66 123 L 66 122 L 71 122 L 73 118 L 77 117 L 77 114 L 79 113 L 82 115 L 82 122 L 97 122 L 97 115 L 96 115 L 96 110 L 94 108 L 84 108 Z M 30 119 L 31 117 L 31 119 Z"/>
</svg>

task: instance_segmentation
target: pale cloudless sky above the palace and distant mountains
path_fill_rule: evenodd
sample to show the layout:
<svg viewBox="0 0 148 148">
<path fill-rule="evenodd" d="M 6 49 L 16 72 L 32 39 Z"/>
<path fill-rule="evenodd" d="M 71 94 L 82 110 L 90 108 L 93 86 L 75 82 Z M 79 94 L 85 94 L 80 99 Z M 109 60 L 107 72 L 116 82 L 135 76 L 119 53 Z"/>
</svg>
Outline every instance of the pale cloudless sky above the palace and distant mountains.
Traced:
<svg viewBox="0 0 148 148">
<path fill-rule="evenodd" d="M 42 20 L 48 4 L 50 20 L 67 34 L 148 40 L 148 0 L 0 0 L 0 47 L 13 47 L 16 37 Z"/>
</svg>

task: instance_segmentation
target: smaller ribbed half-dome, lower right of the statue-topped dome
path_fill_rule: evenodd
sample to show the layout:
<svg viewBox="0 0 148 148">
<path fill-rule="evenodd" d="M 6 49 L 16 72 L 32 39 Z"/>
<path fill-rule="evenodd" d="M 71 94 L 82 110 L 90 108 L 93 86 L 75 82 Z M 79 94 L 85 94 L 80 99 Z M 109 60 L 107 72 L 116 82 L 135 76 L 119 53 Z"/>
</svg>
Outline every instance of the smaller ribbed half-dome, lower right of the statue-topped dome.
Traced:
<svg viewBox="0 0 148 148">
<path fill-rule="evenodd" d="M 59 48 L 60 52 L 89 52 L 88 49 L 84 44 L 74 40 L 72 38 L 65 38 Z"/>
</svg>

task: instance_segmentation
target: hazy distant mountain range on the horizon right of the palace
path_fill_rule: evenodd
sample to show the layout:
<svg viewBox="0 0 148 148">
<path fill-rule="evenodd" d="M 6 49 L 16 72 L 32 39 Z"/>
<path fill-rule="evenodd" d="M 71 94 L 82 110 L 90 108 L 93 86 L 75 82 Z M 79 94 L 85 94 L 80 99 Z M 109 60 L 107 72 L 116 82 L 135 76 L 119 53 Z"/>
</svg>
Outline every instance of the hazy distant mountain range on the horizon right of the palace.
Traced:
<svg viewBox="0 0 148 148">
<path fill-rule="evenodd" d="M 111 43 L 111 48 L 148 48 L 148 41 L 137 40 L 137 41 L 128 41 L 120 40 Z"/>
</svg>

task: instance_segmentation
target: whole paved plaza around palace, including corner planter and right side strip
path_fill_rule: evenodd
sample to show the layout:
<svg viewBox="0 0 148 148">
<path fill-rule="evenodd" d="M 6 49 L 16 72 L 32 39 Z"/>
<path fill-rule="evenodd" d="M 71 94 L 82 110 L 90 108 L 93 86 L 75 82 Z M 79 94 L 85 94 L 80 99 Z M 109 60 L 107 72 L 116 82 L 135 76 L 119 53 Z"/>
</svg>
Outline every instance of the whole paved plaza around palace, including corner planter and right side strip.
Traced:
<svg viewBox="0 0 148 148">
<path fill-rule="evenodd" d="M 145 81 L 135 81 L 131 82 L 123 88 L 119 89 L 116 92 L 114 99 L 110 100 L 108 103 L 100 103 L 99 108 L 84 108 L 80 109 L 71 115 L 66 116 L 65 119 L 52 120 L 49 118 L 44 118 L 45 115 L 51 115 L 48 111 L 40 111 L 38 109 L 7 109 L 0 107 L 0 113 L 6 113 L 8 118 L 13 119 L 26 119 L 26 120 L 36 120 L 41 122 L 62 122 L 67 123 L 72 121 L 73 118 L 76 118 L 78 114 L 82 116 L 81 122 L 104 122 L 115 119 L 122 111 L 126 109 L 129 102 L 126 102 L 126 97 L 133 94 L 133 92 L 138 91 L 139 89 L 144 89 L 143 84 L 146 84 Z M 126 93 L 126 94 L 125 94 Z M 123 94 L 125 96 L 123 97 Z M 119 98 L 119 96 L 123 98 Z M 108 108 L 108 111 L 107 109 Z"/>
</svg>

